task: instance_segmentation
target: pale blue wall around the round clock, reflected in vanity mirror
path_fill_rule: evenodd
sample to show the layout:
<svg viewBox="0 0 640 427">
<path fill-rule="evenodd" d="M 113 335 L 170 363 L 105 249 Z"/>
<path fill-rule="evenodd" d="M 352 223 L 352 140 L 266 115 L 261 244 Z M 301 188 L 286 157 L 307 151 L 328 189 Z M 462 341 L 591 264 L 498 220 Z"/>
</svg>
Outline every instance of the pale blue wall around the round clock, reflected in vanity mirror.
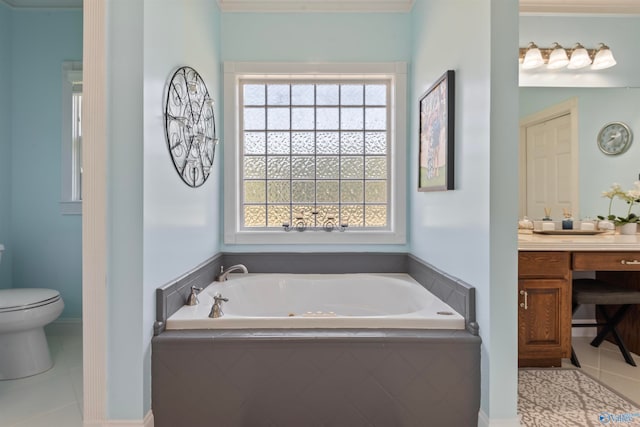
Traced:
<svg viewBox="0 0 640 427">
<path fill-rule="evenodd" d="M 640 179 L 640 88 L 521 88 L 520 117 L 576 98 L 578 102 L 579 211 L 578 218 L 606 215 L 608 199 L 602 192 L 614 182 L 631 189 Z M 622 121 L 635 133 L 635 141 L 618 156 L 608 156 L 596 146 L 596 136 L 606 123 Z M 615 214 L 626 215 L 627 206 L 614 204 Z M 636 211 L 638 213 L 638 211 Z"/>
</svg>

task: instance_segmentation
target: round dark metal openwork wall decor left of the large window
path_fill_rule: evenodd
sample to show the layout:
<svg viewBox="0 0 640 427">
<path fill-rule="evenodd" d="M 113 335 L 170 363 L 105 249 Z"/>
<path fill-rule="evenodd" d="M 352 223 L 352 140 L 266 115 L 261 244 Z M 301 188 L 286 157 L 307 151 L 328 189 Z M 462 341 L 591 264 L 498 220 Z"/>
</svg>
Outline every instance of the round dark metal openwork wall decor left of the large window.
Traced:
<svg viewBox="0 0 640 427">
<path fill-rule="evenodd" d="M 218 144 L 213 106 L 196 70 L 181 67 L 173 73 L 166 89 L 164 130 L 173 165 L 190 187 L 204 184 L 213 166 Z"/>
</svg>

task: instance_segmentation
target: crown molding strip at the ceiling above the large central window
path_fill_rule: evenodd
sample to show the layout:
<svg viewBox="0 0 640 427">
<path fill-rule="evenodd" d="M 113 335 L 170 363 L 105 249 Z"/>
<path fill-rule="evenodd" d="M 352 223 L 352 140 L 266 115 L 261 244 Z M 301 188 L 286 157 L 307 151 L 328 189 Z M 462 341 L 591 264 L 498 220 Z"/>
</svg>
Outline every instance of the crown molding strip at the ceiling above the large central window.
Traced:
<svg viewBox="0 0 640 427">
<path fill-rule="evenodd" d="M 217 0 L 223 12 L 409 12 L 415 0 Z"/>
</svg>

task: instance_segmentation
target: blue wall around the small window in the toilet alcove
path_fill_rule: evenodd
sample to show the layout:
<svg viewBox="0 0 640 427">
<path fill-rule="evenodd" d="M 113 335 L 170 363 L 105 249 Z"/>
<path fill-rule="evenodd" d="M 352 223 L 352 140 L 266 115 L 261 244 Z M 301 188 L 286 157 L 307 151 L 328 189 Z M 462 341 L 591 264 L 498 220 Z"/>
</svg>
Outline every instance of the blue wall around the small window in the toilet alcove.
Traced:
<svg viewBox="0 0 640 427">
<path fill-rule="evenodd" d="M 62 62 L 82 59 L 80 10 L 12 11 L 12 285 L 60 291 L 82 312 L 80 215 L 62 215 Z"/>
</svg>

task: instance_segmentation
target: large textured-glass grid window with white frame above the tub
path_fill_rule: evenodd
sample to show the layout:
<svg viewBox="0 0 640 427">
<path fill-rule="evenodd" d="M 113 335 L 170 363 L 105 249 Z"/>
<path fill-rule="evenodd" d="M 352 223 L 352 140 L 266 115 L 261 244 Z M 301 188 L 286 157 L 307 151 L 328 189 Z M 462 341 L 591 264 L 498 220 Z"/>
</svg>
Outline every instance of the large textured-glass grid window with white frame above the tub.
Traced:
<svg viewBox="0 0 640 427">
<path fill-rule="evenodd" d="M 404 242 L 404 64 L 323 67 L 225 64 L 227 243 Z"/>
</svg>

